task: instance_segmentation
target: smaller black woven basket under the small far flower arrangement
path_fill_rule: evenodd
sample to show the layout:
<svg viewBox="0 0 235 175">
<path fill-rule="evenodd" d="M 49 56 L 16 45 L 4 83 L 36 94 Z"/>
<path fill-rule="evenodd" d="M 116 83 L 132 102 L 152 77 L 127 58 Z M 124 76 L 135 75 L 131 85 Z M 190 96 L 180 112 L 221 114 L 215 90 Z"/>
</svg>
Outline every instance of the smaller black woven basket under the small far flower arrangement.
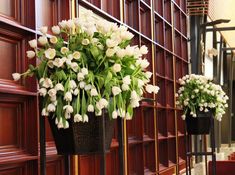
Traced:
<svg viewBox="0 0 235 175">
<path fill-rule="evenodd" d="M 212 111 L 197 111 L 197 117 L 192 117 L 189 113 L 186 116 L 186 129 L 190 135 L 209 134 L 213 122 Z"/>
</svg>

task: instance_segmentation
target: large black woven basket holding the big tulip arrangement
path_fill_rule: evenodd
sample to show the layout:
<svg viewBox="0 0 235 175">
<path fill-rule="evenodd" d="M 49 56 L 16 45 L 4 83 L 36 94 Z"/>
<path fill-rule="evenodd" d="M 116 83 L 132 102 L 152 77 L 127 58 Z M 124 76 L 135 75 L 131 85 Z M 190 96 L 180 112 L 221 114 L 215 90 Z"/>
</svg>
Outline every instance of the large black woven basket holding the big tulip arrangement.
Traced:
<svg viewBox="0 0 235 175">
<path fill-rule="evenodd" d="M 108 115 L 108 114 L 106 114 Z M 48 117 L 54 136 L 57 153 L 60 155 L 96 154 L 101 152 L 102 117 L 89 113 L 89 122 L 74 123 L 69 120 L 68 129 L 58 129 L 55 118 Z M 114 131 L 114 121 L 105 116 L 105 148 L 110 149 Z"/>
</svg>

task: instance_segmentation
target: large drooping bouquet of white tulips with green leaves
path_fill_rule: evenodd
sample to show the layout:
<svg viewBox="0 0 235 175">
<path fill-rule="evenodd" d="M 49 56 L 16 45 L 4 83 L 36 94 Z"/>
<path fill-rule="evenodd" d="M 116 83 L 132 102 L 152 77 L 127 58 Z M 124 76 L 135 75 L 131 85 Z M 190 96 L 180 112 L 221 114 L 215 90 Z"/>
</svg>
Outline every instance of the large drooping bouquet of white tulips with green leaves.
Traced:
<svg viewBox="0 0 235 175">
<path fill-rule="evenodd" d="M 49 39 L 44 26 L 43 35 L 29 41 L 33 50 L 27 51 L 27 57 L 36 56 L 40 64 L 14 73 L 13 78 L 36 75 L 43 96 L 41 114 L 56 117 L 58 128 L 68 128 L 70 118 L 88 122 L 88 112 L 100 116 L 104 108 L 113 119 L 131 119 L 143 92 L 158 92 L 157 86 L 148 84 L 152 73 L 146 71 L 149 62 L 142 58 L 148 49 L 130 46 L 133 34 L 126 27 L 95 19 L 88 11 L 51 30 L 54 36 Z"/>
</svg>

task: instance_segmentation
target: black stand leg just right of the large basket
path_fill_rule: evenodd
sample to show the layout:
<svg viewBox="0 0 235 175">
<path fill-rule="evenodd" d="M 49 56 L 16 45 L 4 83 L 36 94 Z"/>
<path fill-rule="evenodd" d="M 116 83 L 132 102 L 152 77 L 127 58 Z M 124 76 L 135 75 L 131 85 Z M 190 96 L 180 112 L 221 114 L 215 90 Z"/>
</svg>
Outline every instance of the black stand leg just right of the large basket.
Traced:
<svg viewBox="0 0 235 175">
<path fill-rule="evenodd" d="M 124 142 L 123 142 L 123 120 L 119 117 L 118 118 L 118 157 L 119 157 L 119 174 L 125 174 L 125 167 L 124 167 Z"/>
</svg>

